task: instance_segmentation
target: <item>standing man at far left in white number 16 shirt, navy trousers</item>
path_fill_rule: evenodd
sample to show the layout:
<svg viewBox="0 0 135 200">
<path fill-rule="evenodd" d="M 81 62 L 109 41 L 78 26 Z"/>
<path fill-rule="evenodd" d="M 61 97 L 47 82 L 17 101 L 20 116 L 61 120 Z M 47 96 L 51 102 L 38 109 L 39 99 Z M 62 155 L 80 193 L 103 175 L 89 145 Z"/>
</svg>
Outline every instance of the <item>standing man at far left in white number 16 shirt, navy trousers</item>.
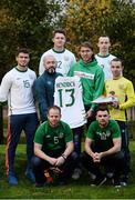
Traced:
<svg viewBox="0 0 135 200">
<path fill-rule="evenodd" d="M 29 51 L 19 49 L 15 60 L 18 64 L 6 73 L 0 86 L 0 101 L 8 100 L 9 107 L 6 167 L 10 184 L 18 184 L 14 172 L 14 157 L 22 130 L 27 137 L 28 164 L 25 176 L 34 182 L 31 158 L 33 156 L 33 137 L 38 126 L 32 92 L 37 76 L 34 71 L 28 68 L 30 61 Z"/>
</svg>

